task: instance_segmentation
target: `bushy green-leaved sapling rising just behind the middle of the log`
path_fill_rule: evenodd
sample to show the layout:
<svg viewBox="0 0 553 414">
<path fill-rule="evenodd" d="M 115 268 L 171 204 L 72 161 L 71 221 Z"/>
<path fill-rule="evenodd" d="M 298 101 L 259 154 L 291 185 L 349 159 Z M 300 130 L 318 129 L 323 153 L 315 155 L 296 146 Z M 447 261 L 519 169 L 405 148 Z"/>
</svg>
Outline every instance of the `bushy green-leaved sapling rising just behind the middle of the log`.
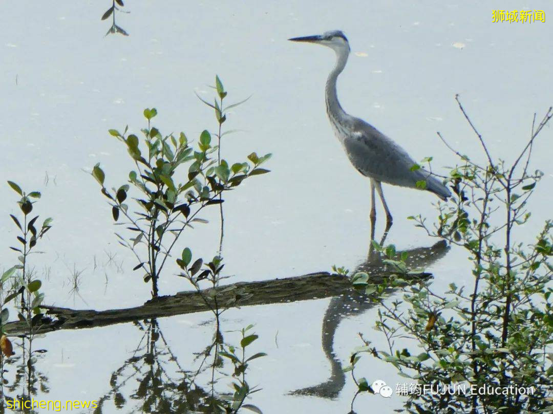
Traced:
<svg viewBox="0 0 553 414">
<path fill-rule="evenodd" d="M 128 128 L 123 133 L 109 130 L 113 137 L 126 144 L 136 167 L 129 172 L 128 184 L 110 191 L 104 185 L 105 173 L 100 165 L 92 169 L 92 176 L 102 186 L 102 194 L 112 207 L 114 221 L 124 216 L 126 221 L 118 224 L 135 234 L 126 239 L 116 233 L 119 243 L 131 249 L 138 260 L 134 270 L 143 270 L 144 281 L 152 283 L 153 297 L 159 294 L 158 279 L 182 232 L 194 223 L 206 223 L 198 214 L 207 206 L 223 202 L 220 198 L 223 192 L 232 190 L 250 176 L 267 172 L 259 165 L 270 157 L 270 154 L 259 157 L 251 153 L 248 155 L 251 164 L 229 166 L 224 159 L 218 163 L 212 158 L 217 146 L 211 145 L 207 130 L 201 133 L 194 150 L 182 132 L 178 138 L 173 134 L 161 135 L 151 124 L 156 114 L 155 108 L 144 109 L 148 127 L 142 129 L 142 145 L 137 135 L 127 134 Z M 186 164 L 189 164 L 187 173 L 182 168 Z M 142 193 L 133 198 L 138 212 L 131 211 L 125 203 L 131 186 Z"/>
</svg>

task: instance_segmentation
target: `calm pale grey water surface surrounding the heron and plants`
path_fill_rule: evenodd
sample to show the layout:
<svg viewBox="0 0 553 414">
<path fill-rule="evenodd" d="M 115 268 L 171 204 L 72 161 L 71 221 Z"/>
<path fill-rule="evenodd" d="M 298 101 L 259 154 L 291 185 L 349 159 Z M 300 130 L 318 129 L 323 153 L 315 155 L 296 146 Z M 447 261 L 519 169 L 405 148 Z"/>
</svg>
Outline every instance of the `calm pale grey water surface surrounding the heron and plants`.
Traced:
<svg viewBox="0 0 553 414">
<path fill-rule="evenodd" d="M 464 153 L 481 157 L 456 93 L 492 153 L 507 160 L 529 136 L 533 113 L 551 104 L 553 30 L 547 19 L 552 11 L 544 1 L 528 7 L 502 4 L 509 10 L 545 9 L 546 23 L 531 25 L 493 24 L 491 6 L 481 2 L 129 1 L 125 9 L 131 13 L 117 15 L 128 37 L 103 36 L 109 23 L 100 16 L 111 2 L 103 3 L 17 2 L 3 8 L 0 175 L 43 192 L 38 211 L 54 217 L 54 228 L 42 244 L 46 253 L 34 260 L 36 271 L 49 275 L 46 302 L 58 306 L 119 308 L 149 297 L 149 285 L 131 271 L 134 260 L 117 244 L 109 207 L 86 171 L 100 162 L 110 186 L 123 182 L 131 166 L 121 162 L 126 151 L 106 131 L 126 124 L 144 127 L 145 107 L 158 109 L 155 125 L 162 133 L 184 130 L 196 139 L 201 130 L 214 130 L 211 111 L 194 92 L 210 98 L 207 85 L 215 73 L 231 101 L 252 95 L 229 113 L 225 126 L 242 132 L 223 141 L 225 158 L 242 160 L 253 150 L 273 153 L 270 174 L 248 180 L 227 197 L 223 253 L 226 274 L 233 275 L 229 281 L 327 271 L 333 264 L 353 269 L 364 261 L 369 182 L 349 165 L 325 115 L 324 83 L 334 56 L 286 41 L 292 36 L 344 30 L 352 55 L 338 85 L 342 106 L 397 140 L 415 159 L 433 156 L 436 169 L 455 163 L 437 130 Z M 531 229 L 553 202 L 549 129 L 534 154 L 534 167 L 545 172 L 540 186 L 549 191 L 533 199 Z M 384 191 L 394 214 L 387 242 L 402 250 L 432 245 L 435 240 L 406 217 L 432 218 L 435 198 L 388 186 Z M 0 197 L 3 212 L 14 212 L 14 193 L 7 185 L 0 186 Z M 377 233 L 384 218 L 379 213 Z M 184 243 L 195 255 L 216 254 L 217 217 L 213 209 L 205 214 L 210 224 L 186 234 Z M 8 250 L 15 233 L 7 214 L 0 217 L 0 231 L 1 263 L 8 268 L 15 261 Z M 71 293 L 74 270 L 82 271 L 78 295 Z M 471 280 L 464 253 L 455 249 L 428 270 L 439 287 Z M 161 294 L 190 289 L 175 273 L 167 269 Z M 268 357 L 254 361 L 248 382 L 263 388 L 252 402 L 264 413 L 347 413 L 355 387 L 339 374 L 340 363 L 347 364 L 360 344 L 357 332 L 384 346 L 372 329 L 374 319 L 374 308 L 343 311 L 340 300 L 324 299 L 232 309 L 224 314 L 222 329 L 255 324 L 260 339 L 254 352 Z M 158 324 L 164 338 L 156 345 L 160 353 L 170 349 L 183 369 L 196 369 L 194 353 L 213 334 L 211 315 L 163 318 Z M 35 347 L 48 349 L 37 363 L 48 392 L 39 390 L 36 398 L 106 395 L 112 373 L 141 346 L 144 329 L 147 324 L 129 323 L 36 340 Z M 324 345 L 329 335 L 331 348 L 328 340 Z M 225 339 L 239 342 L 236 333 L 226 332 Z M 178 378 L 174 360 L 162 365 Z M 393 367 L 368 357 L 359 373 L 393 387 L 404 382 Z M 208 381 L 199 378 L 206 389 Z M 326 385 L 319 394 L 325 395 L 291 394 L 321 383 Z M 126 390 L 132 389 L 127 384 Z M 131 398 L 118 410 L 107 401 L 103 412 L 139 412 L 138 406 Z M 358 397 L 354 408 L 387 413 L 400 406 L 398 396 L 367 395 Z"/>
</svg>

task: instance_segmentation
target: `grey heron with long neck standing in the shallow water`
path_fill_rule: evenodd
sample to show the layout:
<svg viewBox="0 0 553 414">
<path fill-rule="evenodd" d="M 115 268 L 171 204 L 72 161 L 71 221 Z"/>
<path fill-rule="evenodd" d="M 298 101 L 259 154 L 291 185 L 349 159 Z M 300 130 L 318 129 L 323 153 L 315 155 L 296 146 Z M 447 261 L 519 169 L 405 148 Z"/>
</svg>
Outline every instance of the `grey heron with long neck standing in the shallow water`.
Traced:
<svg viewBox="0 0 553 414">
<path fill-rule="evenodd" d="M 346 66 L 349 56 L 349 43 L 340 30 L 325 32 L 322 35 L 304 36 L 288 39 L 292 41 L 315 43 L 327 46 L 336 53 L 336 65 L 328 75 L 325 88 L 326 113 L 332 129 L 353 166 L 362 175 L 371 179 L 371 223 L 374 228 L 376 209 L 374 190 L 377 191 L 386 212 L 387 229 L 392 225 L 392 214 L 382 192 L 382 182 L 388 184 L 419 188 L 424 181 L 424 189 L 447 200 L 451 192 L 424 168 L 416 169 L 415 161 L 392 139 L 362 119 L 347 114 L 338 102 L 336 81 Z"/>
</svg>

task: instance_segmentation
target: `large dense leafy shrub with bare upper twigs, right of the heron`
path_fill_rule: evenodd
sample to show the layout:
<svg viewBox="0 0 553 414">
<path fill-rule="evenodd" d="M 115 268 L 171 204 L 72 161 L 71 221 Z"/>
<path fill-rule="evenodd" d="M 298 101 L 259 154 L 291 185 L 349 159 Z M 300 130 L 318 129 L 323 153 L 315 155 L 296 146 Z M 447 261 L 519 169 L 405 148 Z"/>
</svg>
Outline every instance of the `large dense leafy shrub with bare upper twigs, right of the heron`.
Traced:
<svg viewBox="0 0 553 414">
<path fill-rule="evenodd" d="M 384 333 L 388 349 L 365 341 L 349 369 L 362 352 L 393 364 L 413 382 L 413 390 L 403 389 L 409 395 L 408 412 L 550 412 L 553 222 L 547 220 L 529 244 L 514 236 L 530 217 L 526 203 L 542 176 L 529 170 L 531 150 L 553 109 L 537 125 L 534 116 L 530 139 L 507 164 L 495 160 L 458 97 L 457 102 L 486 161 L 480 164 L 461 155 L 439 134 L 461 159 L 446 180 L 454 196 L 437 205 L 434 226 L 421 216 L 410 219 L 430 236 L 467 251 L 472 286 L 452 283 L 447 291 L 436 292 L 429 281 L 421 281 L 405 289 L 403 300 L 383 301 L 375 328 Z M 378 291 L 390 283 L 379 285 Z M 432 395 L 422 388 L 429 385 L 441 390 L 462 385 L 469 391 Z M 471 392 L 471 385 L 484 392 Z M 489 392 L 488 387 L 499 387 L 500 392 Z"/>
</svg>

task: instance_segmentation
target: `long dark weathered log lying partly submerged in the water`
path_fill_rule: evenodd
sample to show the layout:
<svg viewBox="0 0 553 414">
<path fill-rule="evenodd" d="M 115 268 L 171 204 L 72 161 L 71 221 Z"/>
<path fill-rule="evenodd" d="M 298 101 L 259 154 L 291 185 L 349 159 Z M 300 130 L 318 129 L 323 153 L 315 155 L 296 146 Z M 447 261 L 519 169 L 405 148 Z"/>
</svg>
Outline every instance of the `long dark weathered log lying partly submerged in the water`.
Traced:
<svg viewBox="0 0 553 414">
<path fill-rule="evenodd" d="M 374 282 L 377 283 L 385 277 L 389 277 L 390 274 L 392 272 L 374 275 Z M 430 274 L 420 273 L 410 275 L 410 278 L 415 281 L 428 276 Z M 238 282 L 201 291 L 179 292 L 173 296 L 154 298 L 142 306 L 126 309 L 95 311 L 43 306 L 46 310 L 45 315 L 40 322 L 35 323 L 33 332 L 46 333 L 58 329 L 93 328 L 141 319 L 205 312 L 210 311 L 213 307 L 213 297 L 215 296 L 217 296 L 220 308 L 225 308 L 298 302 L 337 296 L 351 290 L 353 290 L 352 285 L 347 277 L 328 272 L 316 272 L 284 279 Z M 28 330 L 25 321 L 4 324 L 4 331 L 9 336 L 22 335 L 28 333 Z"/>
</svg>

